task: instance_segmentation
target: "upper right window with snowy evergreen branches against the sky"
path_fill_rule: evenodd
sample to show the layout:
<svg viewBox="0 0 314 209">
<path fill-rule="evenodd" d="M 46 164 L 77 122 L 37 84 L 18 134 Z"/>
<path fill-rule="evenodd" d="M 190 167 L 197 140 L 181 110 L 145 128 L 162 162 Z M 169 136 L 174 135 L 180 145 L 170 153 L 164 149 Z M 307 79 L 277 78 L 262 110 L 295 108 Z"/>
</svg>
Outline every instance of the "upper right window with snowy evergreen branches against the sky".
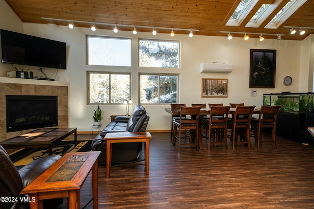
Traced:
<svg viewBox="0 0 314 209">
<path fill-rule="evenodd" d="M 139 40 L 139 66 L 179 68 L 179 41 Z"/>
</svg>

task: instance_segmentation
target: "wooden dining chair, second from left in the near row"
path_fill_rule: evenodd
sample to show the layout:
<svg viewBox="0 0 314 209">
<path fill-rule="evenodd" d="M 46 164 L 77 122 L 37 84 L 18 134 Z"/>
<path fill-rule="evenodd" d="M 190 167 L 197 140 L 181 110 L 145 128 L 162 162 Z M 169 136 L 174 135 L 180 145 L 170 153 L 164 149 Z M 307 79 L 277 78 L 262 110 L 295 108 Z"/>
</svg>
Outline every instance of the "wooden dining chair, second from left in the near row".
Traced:
<svg viewBox="0 0 314 209">
<path fill-rule="evenodd" d="M 204 129 L 211 133 L 215 130 L 215 135 L 212 137 L 212 143 L 224 143 L 226 150 L 227 144 L 227 126 L 228 126 L 228 113 L 230 106 L 211 106 L 209 118 L 203 119 L 202 126 Z M 219 117 L 217 117 L 219 116 Z M 223 137 L 223 140 L 221 140 Z M 208 150 L 210 147 L 210 136 L 208 137 Z"/>
</svg>

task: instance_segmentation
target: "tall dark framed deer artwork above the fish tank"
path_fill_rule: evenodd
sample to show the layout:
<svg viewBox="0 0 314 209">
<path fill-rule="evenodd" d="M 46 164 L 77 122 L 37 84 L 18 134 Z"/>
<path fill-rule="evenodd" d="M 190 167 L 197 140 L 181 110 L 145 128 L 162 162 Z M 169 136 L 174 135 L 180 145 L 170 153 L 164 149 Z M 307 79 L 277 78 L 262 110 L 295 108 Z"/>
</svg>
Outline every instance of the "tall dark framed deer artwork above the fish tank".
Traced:
<svg viewBox="0 0 314 209">
<path fill-rule="evenodd" d="M 275 88 L 276 50 L 250 50 L 250 88 Z"/>
</svg>

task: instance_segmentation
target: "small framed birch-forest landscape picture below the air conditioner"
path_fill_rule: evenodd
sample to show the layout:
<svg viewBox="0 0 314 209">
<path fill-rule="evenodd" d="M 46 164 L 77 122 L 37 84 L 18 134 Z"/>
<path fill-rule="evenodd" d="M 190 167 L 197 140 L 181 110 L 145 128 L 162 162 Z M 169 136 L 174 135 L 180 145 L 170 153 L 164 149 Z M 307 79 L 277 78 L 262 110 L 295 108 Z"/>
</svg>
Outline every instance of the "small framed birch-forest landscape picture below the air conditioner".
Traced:
<svg viewBox="0 0 314 209">
<path fill-rule="evenodd" d="M 202 97 L 227 97 L 228 79 L 202 78 Z"/>
</svg>

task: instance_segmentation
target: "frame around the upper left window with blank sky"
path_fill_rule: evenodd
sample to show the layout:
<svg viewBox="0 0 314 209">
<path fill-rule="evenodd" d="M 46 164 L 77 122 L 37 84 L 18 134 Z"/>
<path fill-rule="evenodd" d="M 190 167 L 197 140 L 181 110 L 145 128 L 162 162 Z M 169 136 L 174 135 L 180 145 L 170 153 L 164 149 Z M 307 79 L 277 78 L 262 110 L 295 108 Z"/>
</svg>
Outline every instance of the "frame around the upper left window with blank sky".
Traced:
<svg viewBox="0 0 314 209">
<path fill-rule="evenodd" d="M 97 64 L 88 64 L 89 63 L 89 42 L 88 38 L 103 38 L 103 39 L 116 39 L 116 40 L 129 40 L 130 41 L 130 66 L 126 65 L 97 65 Z M 86 34 L 86 65 L 87 66 L 109 66 L 109 67 L 132 67 L 132 38 L 131 37 L 119 37 L 119 36 L 102 36 L 102 35 L 90 35 Z"/>
</svg>

